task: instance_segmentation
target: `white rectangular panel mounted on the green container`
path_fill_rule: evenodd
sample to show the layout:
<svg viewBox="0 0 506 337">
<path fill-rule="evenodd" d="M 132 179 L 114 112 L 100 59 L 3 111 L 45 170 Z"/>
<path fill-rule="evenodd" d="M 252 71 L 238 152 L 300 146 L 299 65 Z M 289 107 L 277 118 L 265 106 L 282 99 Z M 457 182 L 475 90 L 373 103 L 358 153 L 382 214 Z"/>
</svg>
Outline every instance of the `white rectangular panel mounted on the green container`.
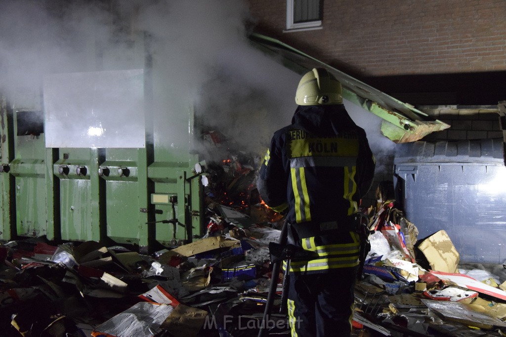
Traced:
<svg viewBox="0 0 506 337">
<path fill-rule="evenodd" d="M 144 71 L 44 79 L 47 148 L 144 148 Z"/>
</svg>

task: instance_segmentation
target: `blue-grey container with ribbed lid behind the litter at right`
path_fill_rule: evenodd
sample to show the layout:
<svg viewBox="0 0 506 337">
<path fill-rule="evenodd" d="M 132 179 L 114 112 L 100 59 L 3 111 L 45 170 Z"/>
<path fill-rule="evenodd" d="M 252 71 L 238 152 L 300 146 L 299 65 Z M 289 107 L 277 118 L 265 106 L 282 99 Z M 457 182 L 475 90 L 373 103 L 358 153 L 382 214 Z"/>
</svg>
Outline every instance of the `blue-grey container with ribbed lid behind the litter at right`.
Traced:
<svg viewBox="0 0 506 337">
<path fill-rule="evenodd" d="M 502 139 L 398 145 L 394 184 L 418 239 L 444 229 L 461 262 L 506 260 Z"/>
</svg>

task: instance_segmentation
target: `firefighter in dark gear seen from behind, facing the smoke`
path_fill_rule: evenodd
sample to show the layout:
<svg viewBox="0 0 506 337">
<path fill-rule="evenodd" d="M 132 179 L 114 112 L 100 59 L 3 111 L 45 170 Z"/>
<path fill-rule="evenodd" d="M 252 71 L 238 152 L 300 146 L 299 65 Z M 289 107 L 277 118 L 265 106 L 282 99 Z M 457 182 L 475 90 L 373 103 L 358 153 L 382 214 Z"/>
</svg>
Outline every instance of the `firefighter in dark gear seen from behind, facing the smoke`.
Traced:
<svg viewBox="0 0 506 337">
<path fill-rule="evenodd" d="M 352 219 L 375 160 L 343 105 L 341 83 L 326 69 L 301 78 L 295 101 L 291 125 L 274 133 L 257 182 L 264 202 L 286 212 L 288 243 L 318 254 L 290 263 L 291 335 L 349 336 L 360 250 Z"/>
</svg>

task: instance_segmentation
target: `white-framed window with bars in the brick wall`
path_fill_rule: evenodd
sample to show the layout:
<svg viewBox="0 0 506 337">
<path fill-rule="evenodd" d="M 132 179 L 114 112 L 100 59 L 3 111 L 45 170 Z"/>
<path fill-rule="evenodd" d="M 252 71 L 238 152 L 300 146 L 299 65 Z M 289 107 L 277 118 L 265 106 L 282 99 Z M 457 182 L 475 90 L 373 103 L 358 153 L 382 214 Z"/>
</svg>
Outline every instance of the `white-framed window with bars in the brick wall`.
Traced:
<svg viewBox="0 0 506 337">
<path fill-rule="evenodd" d="M 286 29 L 321 28 L 321 0 L 286 0 Z"/>
</svg>

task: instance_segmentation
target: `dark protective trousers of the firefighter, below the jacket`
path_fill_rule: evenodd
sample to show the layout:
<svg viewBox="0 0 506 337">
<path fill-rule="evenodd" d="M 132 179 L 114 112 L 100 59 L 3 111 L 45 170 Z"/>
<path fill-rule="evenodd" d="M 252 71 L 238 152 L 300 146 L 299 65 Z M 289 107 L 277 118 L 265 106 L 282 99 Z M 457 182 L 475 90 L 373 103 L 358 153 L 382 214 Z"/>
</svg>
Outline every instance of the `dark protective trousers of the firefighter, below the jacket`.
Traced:
<svg viewBox="0 0 506 337">
<path fill-rule="evenodd" d="M 350 336 L 356 267 L 291 275 L 288 320 L 291 336 Z"/>
</svg>

